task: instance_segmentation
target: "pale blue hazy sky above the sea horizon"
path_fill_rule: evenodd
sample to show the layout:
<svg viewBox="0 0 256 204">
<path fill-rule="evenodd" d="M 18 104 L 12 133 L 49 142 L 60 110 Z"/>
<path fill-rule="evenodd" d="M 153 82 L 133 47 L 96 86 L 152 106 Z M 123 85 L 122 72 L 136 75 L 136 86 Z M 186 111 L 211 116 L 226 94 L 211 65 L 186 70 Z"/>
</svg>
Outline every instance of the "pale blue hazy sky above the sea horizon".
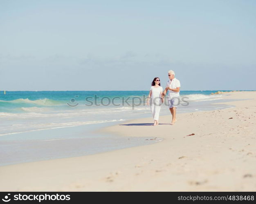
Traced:
<svg viewBox="0 0 256 204">
<path fill-rule="evenodd" d="M 255 0 L 0 0 L 0 90 L 256 90 Z"/>
</svg>

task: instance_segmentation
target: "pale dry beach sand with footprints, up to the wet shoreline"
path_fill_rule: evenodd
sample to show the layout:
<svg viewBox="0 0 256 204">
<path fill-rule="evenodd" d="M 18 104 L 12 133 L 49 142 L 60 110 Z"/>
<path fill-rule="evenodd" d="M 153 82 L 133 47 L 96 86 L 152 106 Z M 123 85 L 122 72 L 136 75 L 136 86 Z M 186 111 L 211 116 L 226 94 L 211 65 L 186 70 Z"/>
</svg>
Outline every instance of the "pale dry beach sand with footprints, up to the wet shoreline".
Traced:
<svg viewBox="0 0 256 204">
<path fill-rule="evenodd" d="M 163 139 L 155 144 L 2 166 L 0 191 L 256 191 L 256 91 L 227 95 L 247 100 L 178 114 L 175 125 L 170 114 L 101 130 Z"/>
</svg>

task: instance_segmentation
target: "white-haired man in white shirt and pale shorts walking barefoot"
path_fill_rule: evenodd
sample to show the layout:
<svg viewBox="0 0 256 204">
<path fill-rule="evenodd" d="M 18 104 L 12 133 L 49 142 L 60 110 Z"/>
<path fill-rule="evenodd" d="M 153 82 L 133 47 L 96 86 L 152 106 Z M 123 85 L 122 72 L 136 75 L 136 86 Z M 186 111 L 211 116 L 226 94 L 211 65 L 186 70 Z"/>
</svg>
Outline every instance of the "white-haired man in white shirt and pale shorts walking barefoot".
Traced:
<svg viewBox="0 0 256 204">
<path fill-rule="evenodd" d="M 175 78 L 175 73 L 173 70 L 168 71 L 168 77 L 169 80 L 166 84 L 166 88 L 164 92 L 162 93 L 162 98 L 164 98 L 164 95 L 166 95 L 167 91 L 169 90 L 168 94 L 168 103 L 169 103 L 169 109 L 171 111 L 171 114 L 173 116 L 171 125 L 173 125 L 176 120 L 176 108 L 179 104 L 179 97 L 180 97 L 180 81 Z"/>
</svg>

